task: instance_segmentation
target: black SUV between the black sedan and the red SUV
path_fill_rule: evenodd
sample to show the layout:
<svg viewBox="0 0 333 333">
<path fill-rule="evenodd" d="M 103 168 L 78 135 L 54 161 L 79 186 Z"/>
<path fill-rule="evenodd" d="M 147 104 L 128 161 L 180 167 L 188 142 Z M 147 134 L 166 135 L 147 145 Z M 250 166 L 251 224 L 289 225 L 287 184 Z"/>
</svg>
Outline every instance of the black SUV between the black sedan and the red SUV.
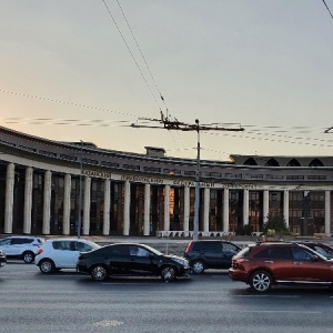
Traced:
<svg viewBox="0 0 333 333">
<path fill-rule="evenodd" d="M 200 274 L 208 269 L 229 269 L 232 256 L 241 250 L 241 246 L 229 241 L 191 241 L 184 258 L 189 260 L 192 271 Z"/>
</svg>

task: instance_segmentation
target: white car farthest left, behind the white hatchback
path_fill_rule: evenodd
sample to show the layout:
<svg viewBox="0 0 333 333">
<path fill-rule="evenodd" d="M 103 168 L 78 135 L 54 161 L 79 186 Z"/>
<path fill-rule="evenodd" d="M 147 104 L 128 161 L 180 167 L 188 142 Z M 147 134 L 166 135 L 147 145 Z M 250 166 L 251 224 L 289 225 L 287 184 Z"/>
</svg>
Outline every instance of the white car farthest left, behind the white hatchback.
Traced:
<svg viewBox="0 0 333 333">
<path fill-rule="evenodd" d="M 0 241 L 0 249 L 8 259 L 23 259 L 26 263 L 32 263 L 44 242 L 44 239 L 36 236 L 8 236 Z"/>
</svg>

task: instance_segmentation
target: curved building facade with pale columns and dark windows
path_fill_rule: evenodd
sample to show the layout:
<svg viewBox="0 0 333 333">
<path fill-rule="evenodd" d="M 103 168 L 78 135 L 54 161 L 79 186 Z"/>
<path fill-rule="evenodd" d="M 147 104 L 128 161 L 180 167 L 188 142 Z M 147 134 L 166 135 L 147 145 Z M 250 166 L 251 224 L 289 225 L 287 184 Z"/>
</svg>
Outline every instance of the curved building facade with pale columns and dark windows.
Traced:
<svg viewBox="0 0 333 333">
<path fill-rule="evenodd" d="M 157 235 L 191 232 L 196 160 L 58 142 L 0 127 L 0 233 Z M 200 161 L 205 234 L 261 231 L 269 214 L 332 233 L 333 159 L 231 155 Z"/>
</svg>

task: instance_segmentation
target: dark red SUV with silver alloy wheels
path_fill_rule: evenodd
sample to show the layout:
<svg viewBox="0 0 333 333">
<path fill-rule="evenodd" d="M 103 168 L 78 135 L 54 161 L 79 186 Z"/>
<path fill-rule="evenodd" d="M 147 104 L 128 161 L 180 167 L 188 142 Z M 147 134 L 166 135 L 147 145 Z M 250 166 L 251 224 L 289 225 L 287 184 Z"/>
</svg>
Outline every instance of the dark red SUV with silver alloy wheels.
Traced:
<svg viewBox="0 0 333 333">
<path fill-rule="evenodd" d="M 297 243 L 259 243 L 249 245 L 232 259 L 232 280 L 258 291 L 273 284 L 333 285 L 333 260 Z"/>
</svg>

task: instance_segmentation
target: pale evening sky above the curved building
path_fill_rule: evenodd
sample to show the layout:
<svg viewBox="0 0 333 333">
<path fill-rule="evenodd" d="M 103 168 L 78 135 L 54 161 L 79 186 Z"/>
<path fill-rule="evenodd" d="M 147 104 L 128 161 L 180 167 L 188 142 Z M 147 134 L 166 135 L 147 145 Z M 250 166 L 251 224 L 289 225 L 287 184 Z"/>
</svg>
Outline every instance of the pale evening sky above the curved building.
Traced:
<svg viewBox="0 0 333 333">
<path fill-rule="evenodd" d="M 244 128 L 201 131 L 202 159 L 333 153 L 324 1 L 0 0 L 0 16 L 3 127 L 194 159 L 195 131 L 131 127 L 162 111 Z"/>
</svg>

